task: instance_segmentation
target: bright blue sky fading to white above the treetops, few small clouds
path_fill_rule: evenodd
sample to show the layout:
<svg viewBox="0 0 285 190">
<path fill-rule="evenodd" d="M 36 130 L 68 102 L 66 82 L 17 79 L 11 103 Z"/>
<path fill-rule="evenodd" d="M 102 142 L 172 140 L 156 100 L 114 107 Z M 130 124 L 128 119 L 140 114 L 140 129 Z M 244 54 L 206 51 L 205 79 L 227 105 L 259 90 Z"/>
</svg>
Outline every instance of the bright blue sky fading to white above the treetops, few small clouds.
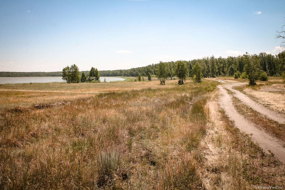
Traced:
<svg viewBox="0 0 285 190">
<path fill-rule="evenodd" d="M 284 0 L 0 0 L 0 71 L 275 55 L 284 17 Z"/>
</svg>

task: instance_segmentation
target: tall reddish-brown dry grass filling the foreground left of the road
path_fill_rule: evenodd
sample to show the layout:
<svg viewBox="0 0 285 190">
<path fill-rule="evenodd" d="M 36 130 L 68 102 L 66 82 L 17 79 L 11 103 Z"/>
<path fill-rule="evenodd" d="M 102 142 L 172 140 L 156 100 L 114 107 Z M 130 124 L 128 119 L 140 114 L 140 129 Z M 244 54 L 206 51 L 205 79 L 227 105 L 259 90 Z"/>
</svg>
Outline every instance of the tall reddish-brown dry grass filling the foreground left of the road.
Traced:
<svg viewBox="0 0 285 190">
<path fill-rule="evenodd" d="M 216 85 L 146 86 L 4 111 L 0 189 L 203 188 L 197 148 Z"/>
</svg>

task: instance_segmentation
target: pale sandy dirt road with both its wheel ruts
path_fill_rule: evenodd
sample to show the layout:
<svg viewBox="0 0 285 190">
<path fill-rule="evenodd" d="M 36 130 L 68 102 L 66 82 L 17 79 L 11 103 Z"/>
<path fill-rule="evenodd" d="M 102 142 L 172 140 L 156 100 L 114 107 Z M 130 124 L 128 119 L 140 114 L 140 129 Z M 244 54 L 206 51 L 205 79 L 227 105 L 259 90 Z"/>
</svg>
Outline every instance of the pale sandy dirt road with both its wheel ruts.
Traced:
<svg viewBox="0 0 285 190">
<path fill-rule="evenodd" d="M 284 116 L 266 109 L 262 105 L 251 100 L 243 93 L 233 89 L 233 86 L 244 84 L 245 83 L 227 83 L 223 81 L 223 84 L 218 86 L 221 94 L 221 98 L 219 100 L 220 106 L 225 110 L 230 119 L 235 121 L 235 125 L 241 131 L 251 135 L 252 139 L 257 144 L 259 144 L 259 146 L 263 148 L 265 152 L 272 152 L 281 162 L 285 164 L 285 148 L 283 147 L 284 142 L 270 136 L 264 130 L 258 129 L 253 122 L 246 120 L 241 114 L 239 114 L 233 105 L 231 95 L 227 93 L 226 89 L 232 91 L 234 93 L 233 96 L 239 98 L 252 109 L 255 109 L 259 113 L 266 115 L 272 120 L 275 120 L 279 123 L 285 123 Z"/>
</svg>

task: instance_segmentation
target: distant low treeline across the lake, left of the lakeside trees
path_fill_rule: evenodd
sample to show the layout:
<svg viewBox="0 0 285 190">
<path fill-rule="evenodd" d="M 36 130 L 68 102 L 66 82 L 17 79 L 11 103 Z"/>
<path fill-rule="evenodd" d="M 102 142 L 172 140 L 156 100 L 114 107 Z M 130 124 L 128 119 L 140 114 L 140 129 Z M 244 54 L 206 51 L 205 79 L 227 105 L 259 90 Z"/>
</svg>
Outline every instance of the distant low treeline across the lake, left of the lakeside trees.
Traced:
<svg viewBox="0 0 285 190">
<path fill-rule="evenodd" d="M 0 77 L 60 77 L 61 71 L 56 72 L 5 72 L 0 71 Z"/>
</svg>

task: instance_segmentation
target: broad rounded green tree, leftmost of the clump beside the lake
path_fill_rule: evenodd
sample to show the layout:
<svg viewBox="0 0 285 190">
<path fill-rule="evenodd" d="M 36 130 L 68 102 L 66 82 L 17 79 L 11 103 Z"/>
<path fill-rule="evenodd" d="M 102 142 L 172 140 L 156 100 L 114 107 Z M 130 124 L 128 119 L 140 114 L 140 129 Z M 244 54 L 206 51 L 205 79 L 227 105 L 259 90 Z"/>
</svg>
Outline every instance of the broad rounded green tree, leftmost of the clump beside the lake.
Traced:
<svg viewBox="0 0 285 190">
<path fill-rule="evenodd" d="M 73 64 L 62 69 L 62 79 L 67 83 L 79 83 L 80 71 L 78 66 Z"/>
</svg>

